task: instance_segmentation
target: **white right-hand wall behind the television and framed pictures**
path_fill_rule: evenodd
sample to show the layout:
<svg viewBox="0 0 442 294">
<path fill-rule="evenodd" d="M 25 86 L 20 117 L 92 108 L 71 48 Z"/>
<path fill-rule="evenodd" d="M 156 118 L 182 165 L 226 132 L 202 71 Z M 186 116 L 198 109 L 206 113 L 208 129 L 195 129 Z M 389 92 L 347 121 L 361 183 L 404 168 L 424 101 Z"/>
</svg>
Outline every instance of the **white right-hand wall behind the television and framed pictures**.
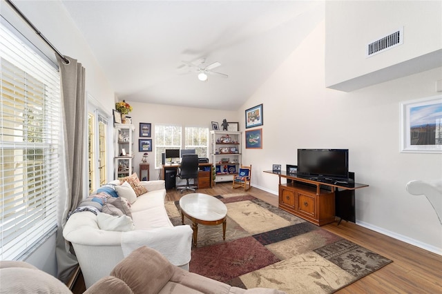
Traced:
<svg viewBox="0 0 442 294">
<path fill-rule="evenodd" d="M 307 37 L 238 111 L 263 104 L 262 150 L 244 151 L 253 186 L 278 193 L 271 164 L 296 164 L 297 148 L 349 148 L 356 182 L 356 222 L 442 254 L 442 226 L 424 196 L 412 196 L 412 179 L 440 179 L 442 155 L 400 153 L 401 101 L 437 95 L 442 69 L 354 92 L 325 88 L 325 23 Z M 275 103 L 278 101 L 278 103 Z"/>
</svg>

